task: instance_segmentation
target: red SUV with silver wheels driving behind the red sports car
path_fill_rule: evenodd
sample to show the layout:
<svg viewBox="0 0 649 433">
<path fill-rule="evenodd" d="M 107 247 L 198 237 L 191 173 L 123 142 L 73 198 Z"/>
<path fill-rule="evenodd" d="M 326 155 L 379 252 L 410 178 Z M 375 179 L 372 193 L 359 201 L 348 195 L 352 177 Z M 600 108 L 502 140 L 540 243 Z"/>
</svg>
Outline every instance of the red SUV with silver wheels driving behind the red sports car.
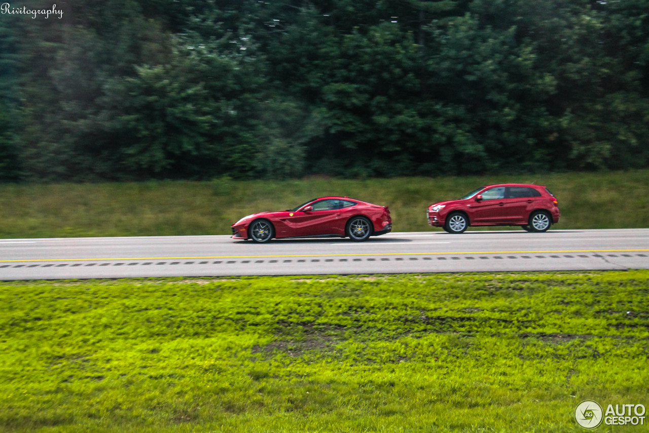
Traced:
<svg viewBox="0 0 649 433">
<path fill-rule="evenodd" d="M 470 225 L 517 225 L 528 232 L 545 232 L 560 216 L 548 188 L 528 184 L 481 186 L 461 199 L 428 206 L 428 224 L 449 233 L 461 233 Z"/>
</svg>

